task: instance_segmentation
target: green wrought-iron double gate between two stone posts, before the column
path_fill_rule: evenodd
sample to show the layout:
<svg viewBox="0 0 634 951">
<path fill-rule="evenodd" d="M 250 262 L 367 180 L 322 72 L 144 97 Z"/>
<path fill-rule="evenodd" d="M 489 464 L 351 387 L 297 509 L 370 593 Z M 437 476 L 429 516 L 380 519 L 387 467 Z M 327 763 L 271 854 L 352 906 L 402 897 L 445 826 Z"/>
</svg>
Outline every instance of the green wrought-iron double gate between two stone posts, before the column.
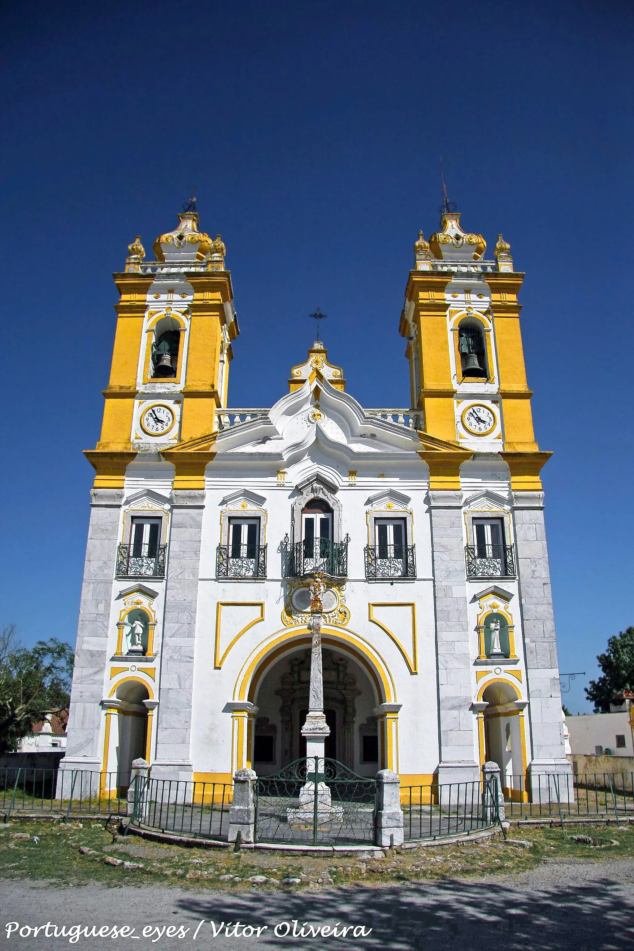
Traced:
<svg viewBox="0 0 634 951">
<path fill-rule="evenodd" d="M 256 780 L 256 842 L 374 843 L 375 798 L 375 779 L 337 760 L 295 760 Z"/>
</svg>

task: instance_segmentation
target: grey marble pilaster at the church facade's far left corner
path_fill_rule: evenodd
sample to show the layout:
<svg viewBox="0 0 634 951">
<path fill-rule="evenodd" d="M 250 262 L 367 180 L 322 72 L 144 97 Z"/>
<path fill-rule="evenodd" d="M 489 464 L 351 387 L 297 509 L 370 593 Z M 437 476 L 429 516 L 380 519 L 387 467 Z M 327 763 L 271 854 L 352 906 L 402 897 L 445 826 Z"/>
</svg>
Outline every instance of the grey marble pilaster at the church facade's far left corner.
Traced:
<svg viewBox="0 0 634 951">
<path fill-rule="evenodd" d="M 86 544 L 84 582 L 77 627 L 75 668 L 70 693 L 66 756 L 61 769 L 100 769 L 100 727 L 104 712 L 104 671 L 108 623 L 119 541 L 123 490 L 93 489 Z M 102 741 L 103 742 L 103 741 Z"/>
</svg>

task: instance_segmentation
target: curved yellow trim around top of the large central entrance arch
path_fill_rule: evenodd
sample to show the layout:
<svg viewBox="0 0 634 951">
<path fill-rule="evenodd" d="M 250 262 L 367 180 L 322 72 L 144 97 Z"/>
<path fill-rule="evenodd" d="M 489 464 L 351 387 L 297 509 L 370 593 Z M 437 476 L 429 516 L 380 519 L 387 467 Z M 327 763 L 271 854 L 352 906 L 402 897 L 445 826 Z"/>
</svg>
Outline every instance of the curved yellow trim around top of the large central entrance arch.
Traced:
<svg viewBox="0 0 634 951">
<path fill-rule="evenodd" d="M 311 634 L 307 628 L 282 628 L 269 634 L 246 658 L 233 691 L 234 700 L 252 700 L 259 679 L 274 660 L 287 650 L 311 644 Z M 343 631 L 339 628 L 323 628 L 322 641 L 339 650 L 349 650 L 355 660 L 360 662 L 368 671 L 375 685 L 379 703 L 394 703 L 396 701 L 396 685 L 392 671 L 385 659 L 376 650 L 375 646 L 354 631 Z M 266 663 L 264 663 L 266 662 Z"/>
</svg>

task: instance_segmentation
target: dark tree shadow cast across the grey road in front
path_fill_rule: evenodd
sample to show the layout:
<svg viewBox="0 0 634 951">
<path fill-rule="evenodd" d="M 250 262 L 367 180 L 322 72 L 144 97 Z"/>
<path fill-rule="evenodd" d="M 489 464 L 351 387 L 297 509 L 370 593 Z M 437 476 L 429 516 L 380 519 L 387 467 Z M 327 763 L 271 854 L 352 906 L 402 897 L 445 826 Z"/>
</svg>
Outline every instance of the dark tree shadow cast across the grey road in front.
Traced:
<svg viewBox="0 0 634 951">
<path fill-rule="evenodd" d="M 587 867 L 587 866 L 586 866 Z M 562 878 L 571 869 L 562 866 Z M 631 883 L 593 870 L 577 883 L 509 883 L 492 879 L 477 882 L 403 884 L 351 887 L 336 891 L 269 892 L 253 895 L 225 893 L 182 896 L 183 911 L 193 914 L 206 939 L 212 937 L 213 920 L 267 924 L 261 941 L 271 947 L 424 948 L 433 951 L 462 946 L 465 951 L 490 951 L 492 943 L 505 951 L 623 951 L 634 945 L 634 891 Z M 333 917 L 336 914 L 336 917 Z M 278 922 L 294 920 L 315 925 L 365 925 L 368 937 L 276 937 Z M 285 930 L 282 927 L 281 932 Z M 203 934 L 200 934 L 203 938 Z M 205 945 L 207 941 L 205 940 Z M 226 946 L 226 944 L 225 944 Z"/>
</svg>

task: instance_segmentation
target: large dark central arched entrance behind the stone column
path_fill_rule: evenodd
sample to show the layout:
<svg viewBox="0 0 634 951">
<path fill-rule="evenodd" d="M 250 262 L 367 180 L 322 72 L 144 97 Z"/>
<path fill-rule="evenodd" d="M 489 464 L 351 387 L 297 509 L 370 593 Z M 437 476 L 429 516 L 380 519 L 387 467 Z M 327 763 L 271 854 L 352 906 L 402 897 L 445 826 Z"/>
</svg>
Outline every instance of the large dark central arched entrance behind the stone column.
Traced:
<svg viewBox="0 0 634 951">
<path fill-rule="evenodd" d="M 300 648 L 275 661 L 259 681 L 253 729 L 253 768 L 270 775 L 305 755 L 301 728 L 308 710 L 311 651 Z M 348 654 L 323 648 L 324 710 L 330 727 L 326 756 L 364 776 L 375 776 L 379 703 L 365 670 Z"/>
</svg>

